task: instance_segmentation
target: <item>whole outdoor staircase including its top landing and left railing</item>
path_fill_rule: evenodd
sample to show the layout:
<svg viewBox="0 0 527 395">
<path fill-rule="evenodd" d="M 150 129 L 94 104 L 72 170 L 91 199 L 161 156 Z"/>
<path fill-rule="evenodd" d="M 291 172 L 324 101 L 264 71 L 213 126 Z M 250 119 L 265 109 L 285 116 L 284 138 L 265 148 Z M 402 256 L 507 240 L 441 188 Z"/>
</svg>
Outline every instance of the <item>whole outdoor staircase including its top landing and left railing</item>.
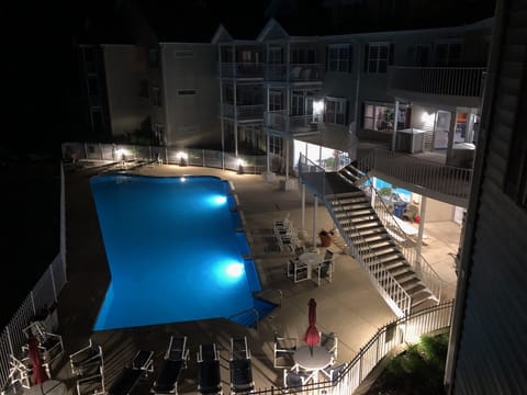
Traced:
<svg viewBox="0 0 527 395">
<path fill-rule="evenodd" d="M 360 189 L 337 172 L 303 173 L 302 181 L 323 199 L 351 256 L 367 270 L 397 316 L 436 298 L 404 258 Z"/>
</svg>

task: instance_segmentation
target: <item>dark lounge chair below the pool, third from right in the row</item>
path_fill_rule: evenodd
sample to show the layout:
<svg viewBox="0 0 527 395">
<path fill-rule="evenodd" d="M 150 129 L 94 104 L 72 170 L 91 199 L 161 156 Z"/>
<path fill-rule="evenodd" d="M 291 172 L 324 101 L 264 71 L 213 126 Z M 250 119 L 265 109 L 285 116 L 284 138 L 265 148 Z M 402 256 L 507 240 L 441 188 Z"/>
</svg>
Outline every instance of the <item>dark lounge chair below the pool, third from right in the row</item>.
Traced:
<svg viewBox="0 0 527 395">
<path fill-rule="evenodd" d="M 178 381 L 182 370 L 187 369 L 188 359 L 187 336 L 170 336 L 170 342 L 165 352 L 159 374 L 150 392 L 153 394 L 177 394 Z"/>
</svg>

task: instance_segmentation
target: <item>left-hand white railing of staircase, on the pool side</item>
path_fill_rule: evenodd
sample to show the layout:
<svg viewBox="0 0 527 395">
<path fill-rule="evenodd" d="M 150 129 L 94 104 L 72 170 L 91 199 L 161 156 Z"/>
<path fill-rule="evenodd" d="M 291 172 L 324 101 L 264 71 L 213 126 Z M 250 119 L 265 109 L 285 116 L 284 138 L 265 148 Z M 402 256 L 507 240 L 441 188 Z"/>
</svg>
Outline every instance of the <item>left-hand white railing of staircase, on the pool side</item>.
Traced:
<svg viewBox="0 0 527 395">
<path fill-rule="evenodd" d="M 343 208 L 340 201 L 336 198 L 330 185 L 326 184 L 324 177 L 324 169 L 319 166 L 312 162 L 307 157 L 301 154 L 299 161 L 299 172 L 302 177 L 304 173 L 309 172 L 319 172 L 322 173 L 322 180 L 318 184 L 318 190 L 322 191 L 322 195 L 317 193 L 318 198 L 326 205 L 329 215 L 333 217 L 335 225 L 337 226 L 340 236 L 346 240 L 348 246 L 351 249 L 351 256 L 365 268 L 370 281 L 373 286 L 377 289 L 379 294 L 386 301 L 389 306 L 393 309 L 395 315 L 403 317 L 410 313 L 412 306 L 412 298 L 408 293 L 399 284 L 395 278 L 384 268 L 382 262 L 371 251 L 369 244 L 366 241 L 365 237 L 361 235 L 360 229 L 355 227 L 351 223 L 348 228 L 351 232 L 346 229 L 335 213 L 335 205 Z M 326 196 L 335 196 L 334 200 L 328 201 Z M 351 234 L 354 236 L 351 236 Z"/>
</svg>

